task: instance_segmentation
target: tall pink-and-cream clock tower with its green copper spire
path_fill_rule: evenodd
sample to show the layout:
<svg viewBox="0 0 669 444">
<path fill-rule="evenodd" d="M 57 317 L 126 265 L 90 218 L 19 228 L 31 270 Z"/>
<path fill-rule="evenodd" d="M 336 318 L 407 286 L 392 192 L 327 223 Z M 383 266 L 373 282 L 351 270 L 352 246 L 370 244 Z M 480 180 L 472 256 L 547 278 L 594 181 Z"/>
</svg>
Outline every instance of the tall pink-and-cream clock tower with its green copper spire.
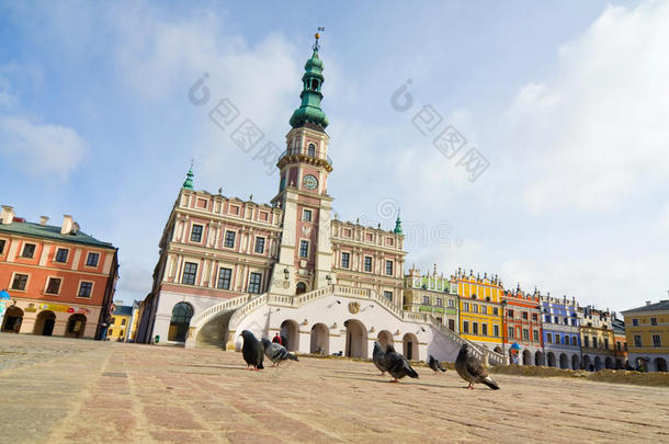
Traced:
<svg viewBox="0 0 669 444">
<path fill-rule="evenodd" d="M 320 109 L 324 83 L 318 38 L 302 77 L 301 106 L 291 117 L 286 150 L 279 159 L 279 194 L 272 200 L 284 212 L 279 263 L 272 293 L 295 295 L 333 283 L 328 174 L 328 118 Z"/>
</svg>

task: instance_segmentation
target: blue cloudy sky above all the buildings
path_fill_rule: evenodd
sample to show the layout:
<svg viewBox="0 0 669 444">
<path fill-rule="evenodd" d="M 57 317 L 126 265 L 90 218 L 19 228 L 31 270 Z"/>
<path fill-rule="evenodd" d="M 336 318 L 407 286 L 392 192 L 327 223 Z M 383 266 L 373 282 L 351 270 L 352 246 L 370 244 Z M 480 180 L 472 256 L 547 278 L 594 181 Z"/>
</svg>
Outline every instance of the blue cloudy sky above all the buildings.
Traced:
<svg viewBox="0 0 669 444">
<path fill-rule="evenodd" d="M 191 159 L 197 190 L 277 192 L 208 113 L 227 100 L 283 149 L 321 26 L 328 192 L 342 220 L 400 212 L 405 271 L 667 298 L 668 2 L 331 3 L 0 1 L 0 204 L 72 215 L 143 299 Z"/>
</svg>

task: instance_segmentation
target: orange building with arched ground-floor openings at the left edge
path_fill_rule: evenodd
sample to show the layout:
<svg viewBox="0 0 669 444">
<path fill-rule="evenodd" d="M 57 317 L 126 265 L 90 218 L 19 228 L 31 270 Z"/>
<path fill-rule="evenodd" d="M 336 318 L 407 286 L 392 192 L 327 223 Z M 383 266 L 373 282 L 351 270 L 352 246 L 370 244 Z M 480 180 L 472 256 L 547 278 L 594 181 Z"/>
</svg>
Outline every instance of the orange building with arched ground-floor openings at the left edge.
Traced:
<svg viewBox="0 0 669 444">
<path fill-rule="evenodd" d="M 79 230 L 27 223 L 11 206 L 0 213 L 0 289 L 11 303 L 2 331 L 98 339 L 118 277 L 117 250 Z"/>
</svg>

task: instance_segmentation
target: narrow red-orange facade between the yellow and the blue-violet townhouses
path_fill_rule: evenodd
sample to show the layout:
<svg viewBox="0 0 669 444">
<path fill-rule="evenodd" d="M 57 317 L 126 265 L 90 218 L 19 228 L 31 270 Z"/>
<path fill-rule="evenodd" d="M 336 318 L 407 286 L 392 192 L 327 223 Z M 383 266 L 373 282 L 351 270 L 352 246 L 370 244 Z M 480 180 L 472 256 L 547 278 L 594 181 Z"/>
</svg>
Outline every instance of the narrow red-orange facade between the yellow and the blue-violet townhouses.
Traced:
<svg viewBox="0 0 669 444">
<path fill-rule="evenodd" d="M 543 352 L 538 293 L 525 294 L 519 285 L 514 292 L 504 291 L 501 303 L 503 352 L 511 363 L 535 365 Z"/>
</svg>

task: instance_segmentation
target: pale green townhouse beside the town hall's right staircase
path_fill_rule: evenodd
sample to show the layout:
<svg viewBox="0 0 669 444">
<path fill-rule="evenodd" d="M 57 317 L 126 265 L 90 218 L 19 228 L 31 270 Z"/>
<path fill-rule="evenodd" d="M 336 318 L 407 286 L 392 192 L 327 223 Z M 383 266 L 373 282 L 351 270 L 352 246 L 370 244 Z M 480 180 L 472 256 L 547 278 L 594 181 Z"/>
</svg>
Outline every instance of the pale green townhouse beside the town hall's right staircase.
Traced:
<svg viewBox="0 0 669 444">
<path fill-rule="evenodd" d="M 412 266 L 405 277 L 402 308 L 413 312 L 426 312 L 434 316 L 447 329 L 458 333 L 458 296 L 455 284 L 436 274 L 436 265 L 432 273 L 421 274 Z"/>
</svg>

